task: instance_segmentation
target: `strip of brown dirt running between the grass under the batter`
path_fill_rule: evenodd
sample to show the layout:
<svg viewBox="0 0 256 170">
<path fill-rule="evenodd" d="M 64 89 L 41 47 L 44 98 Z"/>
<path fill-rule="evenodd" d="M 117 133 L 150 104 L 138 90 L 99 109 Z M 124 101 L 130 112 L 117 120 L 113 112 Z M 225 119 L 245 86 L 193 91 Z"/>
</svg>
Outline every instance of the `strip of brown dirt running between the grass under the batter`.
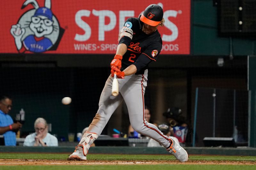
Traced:
<svg viewBox="0 0 256 170">
<path fill-rule="evenodd" d="M 208 165 L 256 165 L 255 161 L 206 161 L 206 160 L 189 160 L 188 162 L 182 163 L 179 161 L 77 161 L 77 160 L 47 160 L 47 159 L 0 159 L 0 166 L 3 165 L 111 165 L 111 164 L 208 164 Z"/>
</svg>

